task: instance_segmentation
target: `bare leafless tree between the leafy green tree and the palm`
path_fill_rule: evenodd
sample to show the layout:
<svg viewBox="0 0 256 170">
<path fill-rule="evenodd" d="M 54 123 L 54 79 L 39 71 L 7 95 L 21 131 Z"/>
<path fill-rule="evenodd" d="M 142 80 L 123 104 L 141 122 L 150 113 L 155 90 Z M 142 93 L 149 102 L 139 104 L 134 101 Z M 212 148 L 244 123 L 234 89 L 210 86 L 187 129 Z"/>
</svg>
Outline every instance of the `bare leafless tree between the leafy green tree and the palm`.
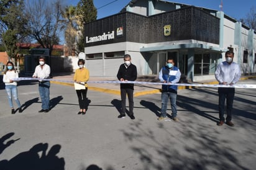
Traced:
<svg viewBox="0 0 256 170">
<path fill-rule="evenodd" d="M 61 0 L 27 0 L 25 14 L 29 20 L 29 35 L 43 48 L 49 48 L 50 55 L 53 45 L 60 42 L 58 33 L 63 27 L 62 12 Z"/>
</svg>

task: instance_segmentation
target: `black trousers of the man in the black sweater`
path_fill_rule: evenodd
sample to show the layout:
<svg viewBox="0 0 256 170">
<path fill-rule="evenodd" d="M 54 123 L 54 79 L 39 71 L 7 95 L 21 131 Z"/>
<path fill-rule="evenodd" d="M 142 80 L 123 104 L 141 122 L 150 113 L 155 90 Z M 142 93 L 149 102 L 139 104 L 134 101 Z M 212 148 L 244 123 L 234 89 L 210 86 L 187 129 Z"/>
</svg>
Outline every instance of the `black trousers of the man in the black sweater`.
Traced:
<svg viewBox="0 0 256 170">
<path fill-rule="evenodd" d="M 134 90 L 121 88 L 122 114 L 126 114 L 126 94 L 129 100 L 129 115 L 134 114 Z"/>
</svg>

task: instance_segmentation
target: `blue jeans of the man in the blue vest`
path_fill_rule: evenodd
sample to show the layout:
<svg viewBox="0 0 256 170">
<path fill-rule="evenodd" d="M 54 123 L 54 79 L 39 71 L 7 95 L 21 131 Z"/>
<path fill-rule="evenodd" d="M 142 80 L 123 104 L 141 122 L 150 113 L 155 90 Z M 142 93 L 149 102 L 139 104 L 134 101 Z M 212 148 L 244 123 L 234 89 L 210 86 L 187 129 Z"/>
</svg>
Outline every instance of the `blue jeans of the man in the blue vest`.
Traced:
<svg viewBox="0 0 256 170">
<path fill-rule="evenodd" d="M 177 116 L 176 97 L 177 97 L 177 94 L 174 92 L 162 92 L 162 94 L 161 94 L 161 99 L 162 99 L 161 117 L 167 116 L 168 99 L 170 99 L 170 103 L 171 103 L 171 116 L 172 117 Z"/>
</svg>

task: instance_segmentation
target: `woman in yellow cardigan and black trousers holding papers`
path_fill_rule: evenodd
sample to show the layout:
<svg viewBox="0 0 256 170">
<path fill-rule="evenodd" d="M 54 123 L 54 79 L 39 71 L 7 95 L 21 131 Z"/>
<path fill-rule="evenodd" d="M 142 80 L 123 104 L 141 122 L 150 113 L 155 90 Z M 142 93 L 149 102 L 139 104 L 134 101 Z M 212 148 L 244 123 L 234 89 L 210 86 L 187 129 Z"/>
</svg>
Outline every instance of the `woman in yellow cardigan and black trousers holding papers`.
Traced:
<svg viewBox="0 0 256 170">
<path fill-rule="evenodd" d="M 88 85 L 86 82 L 89 80 L 89 70 L 85 68 L 85 60 L 83 59 L 78 60 L 78 66 L 79 68 L 76 69 L 74 75 L 75 89 L 80 107 L 78 114 L 84 115 L 86 112 L 86 94 L 88 90 Z M 78 84 L 78 86 L 76 86 L 76 84 Z M 81 84 L 83 85 L 81 86 Z"/>
</svg>

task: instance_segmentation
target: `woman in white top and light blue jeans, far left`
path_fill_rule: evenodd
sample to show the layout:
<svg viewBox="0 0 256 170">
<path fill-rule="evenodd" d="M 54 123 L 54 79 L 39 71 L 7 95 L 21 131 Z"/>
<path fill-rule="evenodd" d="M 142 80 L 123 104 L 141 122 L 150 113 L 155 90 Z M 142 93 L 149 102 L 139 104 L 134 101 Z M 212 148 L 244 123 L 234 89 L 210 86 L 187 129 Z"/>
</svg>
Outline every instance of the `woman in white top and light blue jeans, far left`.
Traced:
<svg viewBox="0 0 256 170">
<path fill-rule="evenodd" d="M 17 82 L 14 81 L 15 78 L 19 78 L 19 74 L 14 69 L 14 65 L 11 61 L 8 61 L 7 64 L 7 70 L 4 72 L 4 76 L 2 78 L 2 81 L 6 84 L 6 92 L 8 95 L 8 102 L 12 109 L 12 114 L 15 114 L 14 107 L 12 104 L 12 96 L 14 97 L 14 100 L 17 103 L 17 106 L 19 108 L 19 112 L 22 112 L 21 109 L 21 102 L 19 102 L 18 94 L 17 94 Z"/>
</svg>

